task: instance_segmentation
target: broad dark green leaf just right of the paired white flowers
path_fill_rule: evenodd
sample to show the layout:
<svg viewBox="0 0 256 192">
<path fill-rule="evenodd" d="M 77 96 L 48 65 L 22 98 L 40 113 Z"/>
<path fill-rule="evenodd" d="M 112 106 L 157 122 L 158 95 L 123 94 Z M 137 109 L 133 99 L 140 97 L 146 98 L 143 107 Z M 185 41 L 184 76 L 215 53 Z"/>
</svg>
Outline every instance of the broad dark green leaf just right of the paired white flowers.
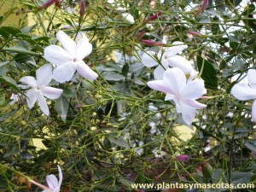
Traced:
<svg viewBox="0 0 256 192">
<path fill-rule="evenodd" d="M 204 79 L 208 89 L 218 88 L 217 67 L 211 62 L 197 55 L 197 67 L 201 72 L 201 79 Z"/>
</svg>

